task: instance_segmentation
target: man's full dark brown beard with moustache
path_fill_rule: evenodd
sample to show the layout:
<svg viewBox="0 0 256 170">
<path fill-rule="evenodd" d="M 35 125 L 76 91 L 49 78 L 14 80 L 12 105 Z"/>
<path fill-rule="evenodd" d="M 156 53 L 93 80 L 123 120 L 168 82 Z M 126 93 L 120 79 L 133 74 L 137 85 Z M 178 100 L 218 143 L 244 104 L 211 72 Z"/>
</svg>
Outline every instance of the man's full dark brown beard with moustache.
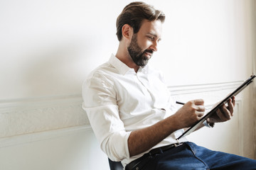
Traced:
<svg viewBox="0 0 256 170">
<path fill-rule="evenodd" d="M 146 57 L 145 52 L 151 53 L 153 55 L 153 50 L 142 50 L 141 47 L 139 47 L 137 42 L 137 34 L 132 35 L 132 41 L 129 44 L 129 47 L 127 47 L 127 50 L 129 52 L 129 55 L 132 57 L 132 60 L 137 66 L 144 67 L 151 57 Z"/>
</svg>

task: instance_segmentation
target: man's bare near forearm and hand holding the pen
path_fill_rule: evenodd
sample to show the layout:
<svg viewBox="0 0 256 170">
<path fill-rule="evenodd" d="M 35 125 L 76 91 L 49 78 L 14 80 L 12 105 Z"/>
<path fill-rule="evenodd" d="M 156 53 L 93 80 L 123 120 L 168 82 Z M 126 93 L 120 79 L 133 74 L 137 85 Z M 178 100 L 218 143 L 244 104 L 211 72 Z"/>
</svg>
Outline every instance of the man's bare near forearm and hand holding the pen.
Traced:
<svg viewBox="0 0 256 170">
<path fill-rule="evenodd" d="M 188 101 L 169 118 L 161 120 L 148 128 L 132 131 L 128 138 L 130 157 L 154 147 L 161 140 L 171 135 L 172 132 L 190 127 L 203 116 L 204 111 L 203 100 Z"/>
</svg>

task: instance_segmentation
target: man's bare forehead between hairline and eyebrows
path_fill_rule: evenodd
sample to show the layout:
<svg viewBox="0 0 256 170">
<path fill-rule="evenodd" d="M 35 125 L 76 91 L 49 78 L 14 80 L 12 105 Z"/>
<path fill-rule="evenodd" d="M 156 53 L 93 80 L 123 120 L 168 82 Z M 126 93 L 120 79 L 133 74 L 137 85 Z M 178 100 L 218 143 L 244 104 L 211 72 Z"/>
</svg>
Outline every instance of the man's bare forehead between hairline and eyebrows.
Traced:
<svg viewBox="0 0 256 170">
<path fill-rule="evenodd" d="M 139 33 L 143 34 L 153 34 L 156 35 L 157 37 L 161 37 L 161 32 L 162 32 L 162 25 L 160 20 L 155 20 L 155 21 L 148 21 L 144 20 L 142 21 L 142 26 L 139 29 Z"/>
</svg>

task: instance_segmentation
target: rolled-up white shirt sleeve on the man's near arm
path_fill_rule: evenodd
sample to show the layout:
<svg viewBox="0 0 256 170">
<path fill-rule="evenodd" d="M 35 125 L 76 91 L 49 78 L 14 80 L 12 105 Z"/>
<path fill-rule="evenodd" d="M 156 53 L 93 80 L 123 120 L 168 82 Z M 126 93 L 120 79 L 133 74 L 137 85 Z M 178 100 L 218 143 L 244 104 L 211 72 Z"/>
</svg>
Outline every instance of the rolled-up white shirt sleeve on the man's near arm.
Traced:
<svg viewBox="0 0 256 170">
<path fill-rule="evenodd" d="M 112 161 L 129 159 L 128 137 L 110 79 L 98 75 L 87 79 L 82 86 L 82 108 L 87 113 L 100 147 Z"/>
</svg>

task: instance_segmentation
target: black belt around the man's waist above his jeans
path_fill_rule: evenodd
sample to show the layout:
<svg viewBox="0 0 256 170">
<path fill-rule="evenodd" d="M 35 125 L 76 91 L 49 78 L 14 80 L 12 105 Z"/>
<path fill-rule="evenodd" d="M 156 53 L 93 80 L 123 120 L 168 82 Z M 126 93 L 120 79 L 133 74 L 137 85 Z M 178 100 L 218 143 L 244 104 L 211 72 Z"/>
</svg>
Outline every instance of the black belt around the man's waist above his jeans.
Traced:
<svg viewBox="0 0 256 170">
<path fill-rule="evenodd" d="M 180 145 L 183 145 L 183 143 L 176 143 L 176 144 L 171 144 L 164 147 L 158 147 L 158 148 L 152 149 L 151 151 L 149 151 L 149 153 L 146 153 L 142 157 L 139 157 L 138 159 L 135 159 L 133 162 L 130 162 L 129 164 L 127 164 L 127 166 L 125 166 L 125 170 L 141 169 L 147 162 L 150 161 L 152 156 L 156 154 L 162 154 L 164 151 L 171 149 L 173 147 L 178 147 Z"/>
</svg>

